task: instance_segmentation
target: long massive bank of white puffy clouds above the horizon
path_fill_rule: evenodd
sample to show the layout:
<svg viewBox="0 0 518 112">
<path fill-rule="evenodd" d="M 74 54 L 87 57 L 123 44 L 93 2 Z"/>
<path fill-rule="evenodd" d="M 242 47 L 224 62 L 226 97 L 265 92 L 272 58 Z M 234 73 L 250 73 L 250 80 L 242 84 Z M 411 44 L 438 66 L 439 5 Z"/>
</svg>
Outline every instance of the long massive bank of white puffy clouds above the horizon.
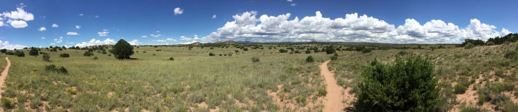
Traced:
<svg viewBox="0 0 518 112">
<path fill-rule="evenodd" d="M 254 14 L 255 13 L 255 14 Z M 232 16 L 217 31 L 201 38 L 202 42 L 253 41 L 253 42 L 377 42 L 377 43 L 461 43 L 465 39 L 488 39 L 501 35 L 493 25 L 486 25 L 473 19 L 461 28 L 453 23 L 431 20 L 425 24 L 409 18 L 397 28 L 378 18 L 357 13 L 346 14 L 344 18 L 326 18 L 320 11 L 314 16 L 302 19 L 290 18 L 290 13 L 277 16 L 244 12 Z M 508 33 L 502 29 L 502 33 Z M 180 40 L 193 41 L 185 36 Z"/>
</svg>

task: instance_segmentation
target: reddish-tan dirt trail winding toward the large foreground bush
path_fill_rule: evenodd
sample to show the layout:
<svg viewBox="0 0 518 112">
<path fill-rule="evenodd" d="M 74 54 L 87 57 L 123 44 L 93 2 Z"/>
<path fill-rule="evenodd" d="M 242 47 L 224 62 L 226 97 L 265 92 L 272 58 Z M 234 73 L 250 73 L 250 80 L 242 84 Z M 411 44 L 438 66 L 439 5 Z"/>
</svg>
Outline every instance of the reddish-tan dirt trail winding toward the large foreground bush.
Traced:
<svg viewBox="0 0 518 112">
<path fill-rule="evenodd" d="M 324 111 L 343 111 L 344 108 L 350 105 L 342 102 L 344 99 L 349 100 L 351 96 L 348 91 L 344 91 L 343 87 L 336 83 L 334 73 L 327 69 L 327 60 L 320 65 L 320 73 L 324 76 L 326 83 L 327 95 L 324 99 Z M 345 94 L 345 95 L 344 95 Z M 349 97 L 346 97 L 349 96 Z"/>
</svg>

